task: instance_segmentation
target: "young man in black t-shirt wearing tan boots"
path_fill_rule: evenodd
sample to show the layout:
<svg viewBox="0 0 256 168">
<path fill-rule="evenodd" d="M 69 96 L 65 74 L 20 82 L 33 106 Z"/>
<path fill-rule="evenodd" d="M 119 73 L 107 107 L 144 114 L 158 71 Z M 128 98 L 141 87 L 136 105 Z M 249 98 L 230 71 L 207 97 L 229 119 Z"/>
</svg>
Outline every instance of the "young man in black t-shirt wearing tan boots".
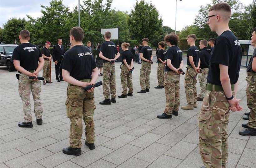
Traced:
<svg viewBox="0 0 256 168">
<path fill-rule="evenodd" d="M 195 46 L 196 35 L 188 35 L 187 42 L 190 45 L 187 53 L 187 70 L 185 73 L 185 93 L 188 104 L 186 106 L 182 106 L 183 110 L 193 110 L 197 107 L 197 91 L 196 91 L 196 77 L 199 73 L 199 69 L 197 68 L 198 64 L 200 65 L 199 49 Z"/>
</svg>

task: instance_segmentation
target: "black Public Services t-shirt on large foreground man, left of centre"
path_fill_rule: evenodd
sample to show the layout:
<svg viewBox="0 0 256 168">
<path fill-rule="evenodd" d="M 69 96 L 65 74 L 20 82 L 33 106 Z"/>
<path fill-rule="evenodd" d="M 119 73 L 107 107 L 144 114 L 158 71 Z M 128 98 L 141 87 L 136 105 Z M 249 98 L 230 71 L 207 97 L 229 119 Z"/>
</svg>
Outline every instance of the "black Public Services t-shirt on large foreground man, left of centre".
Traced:
<svg viewBox="0 0 256 168">
<path fill-rule="evenodd" d="M 90 49 L 84 45 L 75 45 L 65 52 L 60 67 L 70 72 L 73 78 L 82 80 L 92 78 L 97 64 Z"/>
</svg>

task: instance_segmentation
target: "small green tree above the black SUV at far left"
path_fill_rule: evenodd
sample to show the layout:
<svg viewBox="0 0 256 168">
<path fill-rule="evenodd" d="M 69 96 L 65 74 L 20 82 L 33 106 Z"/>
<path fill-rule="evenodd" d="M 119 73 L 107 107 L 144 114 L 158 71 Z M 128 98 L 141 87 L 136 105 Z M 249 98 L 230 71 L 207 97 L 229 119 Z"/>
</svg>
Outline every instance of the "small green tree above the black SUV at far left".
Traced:
<svg viewBox="0 0 256 168">
<path fill-rule="evenodd" d="M 19 33 L 25 29 L 26 19 L 11 18 L 3 24 L 3 41 L 6 44 L 14 44 L 15 40 L 19 43 Z"/>
</svg>

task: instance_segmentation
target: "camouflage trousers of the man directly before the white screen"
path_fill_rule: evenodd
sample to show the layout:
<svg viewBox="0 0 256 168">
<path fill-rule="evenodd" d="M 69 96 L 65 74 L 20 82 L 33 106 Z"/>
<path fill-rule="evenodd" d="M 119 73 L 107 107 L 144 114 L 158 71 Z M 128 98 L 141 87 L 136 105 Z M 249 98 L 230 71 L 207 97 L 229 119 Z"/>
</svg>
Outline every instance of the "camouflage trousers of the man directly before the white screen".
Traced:
<svg viewBox="0 0 256 168">
<path fill-rule="evenodd" d="M 115 64 L 103 63 L 103 96 L 105 99 L 116 98 L 116 71 Z M 110 90 L 110 92 L 109 92 Z"/>
</svg>

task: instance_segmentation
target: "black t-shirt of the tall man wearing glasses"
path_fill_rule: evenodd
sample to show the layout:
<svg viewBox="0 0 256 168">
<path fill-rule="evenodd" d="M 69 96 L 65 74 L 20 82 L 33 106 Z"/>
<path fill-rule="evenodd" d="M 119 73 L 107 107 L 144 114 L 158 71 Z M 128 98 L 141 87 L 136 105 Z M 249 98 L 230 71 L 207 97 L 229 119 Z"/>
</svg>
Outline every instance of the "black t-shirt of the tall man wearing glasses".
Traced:
<svg viewBox="0 0 256 168">
<path fill-rule="evenodd" d="M 241 59 L 242 49 L 237 37 L 229 30 L 224 31 L 214 43 L 207 83 L 221 86 L 219 64 L 222 64 L 228 66 L 230 83 L 235 84 L 239 77 Z"/>
</svg>

